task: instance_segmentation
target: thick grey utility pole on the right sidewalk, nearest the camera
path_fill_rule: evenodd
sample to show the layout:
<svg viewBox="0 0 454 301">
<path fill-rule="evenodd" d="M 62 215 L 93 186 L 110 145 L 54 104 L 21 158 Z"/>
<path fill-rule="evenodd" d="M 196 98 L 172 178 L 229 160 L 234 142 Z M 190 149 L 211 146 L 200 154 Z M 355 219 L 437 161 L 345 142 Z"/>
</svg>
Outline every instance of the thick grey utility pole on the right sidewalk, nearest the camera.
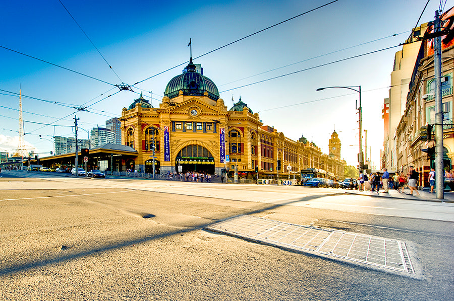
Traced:
<svg viewBox="0 0 454 301">
<path fill-rule="evenodd" d="M 435 11 L 434 31 L 440 30 L 440 16 Z M 437 199 L 443 199 L 443 111 L 441 106 L 441 41 L 434 38 L 435 81 L 435 190 Z"/>
</svg>

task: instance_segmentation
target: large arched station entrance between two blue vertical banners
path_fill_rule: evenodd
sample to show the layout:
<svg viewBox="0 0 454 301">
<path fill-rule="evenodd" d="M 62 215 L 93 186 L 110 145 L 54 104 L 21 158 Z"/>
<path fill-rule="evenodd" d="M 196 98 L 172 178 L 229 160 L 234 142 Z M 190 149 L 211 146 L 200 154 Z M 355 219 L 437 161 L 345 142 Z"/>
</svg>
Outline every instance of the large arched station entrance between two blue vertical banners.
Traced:
<svg viewBox="0 0 454 301">
<path fill-rule="evenodd" d="M 188 145 L 180 150 L 175 160 L 175 170 L 214 174 L 214 157 L 201 145 Z"/>
</svg>

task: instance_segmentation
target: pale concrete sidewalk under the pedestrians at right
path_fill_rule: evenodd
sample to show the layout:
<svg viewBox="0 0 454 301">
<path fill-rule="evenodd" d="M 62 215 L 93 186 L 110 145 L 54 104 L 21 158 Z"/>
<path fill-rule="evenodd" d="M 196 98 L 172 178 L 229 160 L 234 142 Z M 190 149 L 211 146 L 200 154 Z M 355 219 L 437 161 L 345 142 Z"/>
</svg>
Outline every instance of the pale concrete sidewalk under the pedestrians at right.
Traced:
<svg viewBox="0 0 454 301">
<path fill-rule="evenodd" d="M 404 193 L 399 192 L 398 190 L 389 189 L 389 193 L 384 193 L 384 190 L 381 189 L 379 192 L 372 192 L 370 190 L 359 191 L 359 190 L 346 190 L 346 193 L 356 194 L 356 195 L 365 195 L 365 196 L 378 196 L 378 197 L 387 197 L 387 198 L 399 198 L 407 200 L 421 200 L 421 201 L 435 201 L 435 202 L 449 202 L 454 203 L 454 192 L 444 192 L 444 199 L 437 199 L 435 193 L 430 193 L 424 190 L 418 190 L 420 195 L 417 195 L 413 192 L 413 195 L 408 195 L 410 189 L 406 188 Z"/>
</svg>

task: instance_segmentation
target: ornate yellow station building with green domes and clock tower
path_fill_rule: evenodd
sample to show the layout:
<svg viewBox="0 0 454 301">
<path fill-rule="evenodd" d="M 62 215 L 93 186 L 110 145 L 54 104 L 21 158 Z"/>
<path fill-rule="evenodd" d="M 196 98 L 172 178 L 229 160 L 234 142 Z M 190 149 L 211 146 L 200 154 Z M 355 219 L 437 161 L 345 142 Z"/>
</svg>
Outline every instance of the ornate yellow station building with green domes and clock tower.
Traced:
<svg viewBox="0 0 454 301">
<path fill-rule="evenodd" d="M 155 169 L 161 173 L 221 174 L 222 169 L 237 168 L 240 177 L 252 179 L 256 168 L 261 178 L 317 168 L 326 177 L 344 176 L 346 162 L 340 159 L 337 134 L 332 145 L 338 145 L 338 151 L 328 156 L 304 138 L 294 141 L 264 125 L 241 98 L 228 109 L 216 85 L 196 71 L 192 58 L 167 84 L 159 108 L 141 95 L 123 108 L 120 120 L 122 143 L 139 153 L 125 162 L 125 169 L 150 172 L 154 147 Z"/>
</svg>

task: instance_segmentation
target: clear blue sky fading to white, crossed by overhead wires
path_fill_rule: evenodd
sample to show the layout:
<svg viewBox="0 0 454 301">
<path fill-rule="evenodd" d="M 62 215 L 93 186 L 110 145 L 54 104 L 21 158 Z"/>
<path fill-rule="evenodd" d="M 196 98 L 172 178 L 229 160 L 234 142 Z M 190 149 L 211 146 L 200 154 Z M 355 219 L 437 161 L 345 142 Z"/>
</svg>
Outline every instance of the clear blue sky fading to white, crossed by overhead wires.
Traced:
<svg viewBox="0 0 454 301">
<path fill-rule="evenodd" d="M 133 85 L 186 62 L 190 38 L 193 57 L 197 57 L 329 1 L 61 2 L 118 77 L 59 0 L 42 1 L 39 5 L 34 1 L 2 4 L 0 26 L 4 30 L 0 46 L 109 83 L 0 48 L 0 89 L 18 93 L 21 86 L 23 95 L 65 104 L 22 98 L 27 133 L 24 140 L 38 153 L 53 150 L 54 135 L 74 136 L 69 126 L 74 124 L 75 115 L 80 118 L 80 127 L 88 131 L 96 125 L 104 126 L 111 117 L 121 116 L 122 108 L 128 107 L 138 94 L 122 91 L 90 105 L 119 91 L 110 84 Z M 453 2 L 446 2 L 446 10 Z M 265 124 L 291 139 L 304 135 L 327 153 L 328 139 L 335 126 L 342 142 L 341 156 L 351 165 L 357 164 L 358 94 L 347 89 L 315 90 L 361 85 L 363 128 L 368 130 L 372 161 L 379 165 L 379 151 L 383 148 L 381 107 L 388 95 L 394 53 L 400 47 L 238 87 L 398 45 L 416 25 L 425 4 L 426 0 L 339 0 L 194 62 L 202 64 L 204 75 L 217 85 L 229 108 L 232 95 L 235 102 L 241 96 Z M 432 21 L 438 7 L 439 2 L 430 1 L 420 24 Z M 389 37 L 393 34 L 397 35 Z M 377 39 L 380 40 L 371 42 Z M 363 43 L 366 44 L 352 47 Z M 349 49 L 338 51 L 345 48 Z M 288 64 L 292 65 L 279 68 Z M 152 91 L 152 104 L 156 107 L 167 82 L 180 74 L 183 67 L 166 71 L 133 90 L 143 92 L 145 97 Z M 279 69 L 254 76 L 275 68 Z M 0 151 L 12 152 L 18 143 L 19 99 L 10 93 L 0 93 Z M 76 112 L 73 106 L 90 106 L 89 112 L 72 114 Z M 56 121 L 67 115 L 70 116 Z M 56 121 L 55 125 L 62 126 L 43 127 L 28 121 L 47 124 Z M 81 130 L 79 137 L 88 135 Z"/>
</svg>

